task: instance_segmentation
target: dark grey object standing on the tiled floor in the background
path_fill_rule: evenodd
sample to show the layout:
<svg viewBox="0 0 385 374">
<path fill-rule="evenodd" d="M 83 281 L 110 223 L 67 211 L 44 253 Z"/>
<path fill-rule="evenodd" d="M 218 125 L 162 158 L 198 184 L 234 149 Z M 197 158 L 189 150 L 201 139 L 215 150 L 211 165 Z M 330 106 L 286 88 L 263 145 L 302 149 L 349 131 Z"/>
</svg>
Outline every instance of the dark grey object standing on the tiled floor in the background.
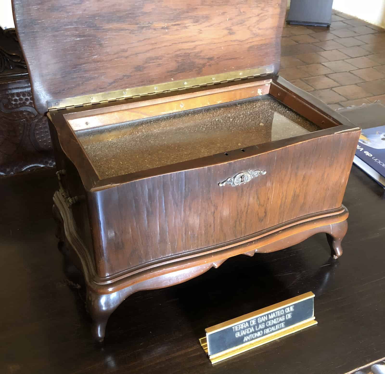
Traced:
<svg viewBox="0 0 385 374">
<path fill-rule="evenodd" d="M 291 0 L 286 22 L 298 25 L 330 26 L 333 0 Z"/>
</svg>

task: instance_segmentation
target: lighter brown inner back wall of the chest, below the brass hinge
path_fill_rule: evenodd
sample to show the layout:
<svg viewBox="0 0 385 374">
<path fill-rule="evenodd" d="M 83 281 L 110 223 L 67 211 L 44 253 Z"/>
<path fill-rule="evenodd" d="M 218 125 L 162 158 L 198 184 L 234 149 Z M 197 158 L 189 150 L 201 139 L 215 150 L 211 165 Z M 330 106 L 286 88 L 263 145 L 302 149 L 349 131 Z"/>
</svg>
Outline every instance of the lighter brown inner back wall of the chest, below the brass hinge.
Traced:
<svg viewBox="0 0 385 374">
<path fill-rule="evenodd" d="M 126 104 L 124 109 L 107 113 L 88 114 L 77 118 L 70 118 L 70 115 L 64 117 L 74 131 L 88 130 L 266 95 L 269 93 L 270 83 L 271 80 L 262 80 L 236 86 L 221 86 L 163 99 L 136 101 Z"/>
</svg>

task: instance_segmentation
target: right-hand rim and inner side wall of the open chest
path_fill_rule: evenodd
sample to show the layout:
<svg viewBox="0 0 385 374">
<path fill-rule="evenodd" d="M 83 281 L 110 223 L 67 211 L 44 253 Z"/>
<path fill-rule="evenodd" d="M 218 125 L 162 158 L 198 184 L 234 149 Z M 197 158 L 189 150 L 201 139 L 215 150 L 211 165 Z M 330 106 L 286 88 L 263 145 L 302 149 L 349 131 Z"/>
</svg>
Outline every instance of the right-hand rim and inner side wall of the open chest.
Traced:
<svg viewBox="0 0 385 374">
<path fill-rule="evenodd" d="M 360 129 L 323 101 L 311 93 L 301 90 L 281 76 L 273 78 L 269 94 L 321 128 L 345 125 L 352 130 Z"/>
</svg>

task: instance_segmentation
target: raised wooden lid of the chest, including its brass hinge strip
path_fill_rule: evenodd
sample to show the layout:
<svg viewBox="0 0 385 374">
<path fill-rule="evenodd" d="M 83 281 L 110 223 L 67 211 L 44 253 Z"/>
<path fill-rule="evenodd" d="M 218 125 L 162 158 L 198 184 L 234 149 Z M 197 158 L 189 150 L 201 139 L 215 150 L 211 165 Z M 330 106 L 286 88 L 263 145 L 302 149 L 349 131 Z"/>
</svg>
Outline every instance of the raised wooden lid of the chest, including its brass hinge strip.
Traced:
<svg viewBox="0 0 385 374">
<path fill-rule="evenodd" d="M 12 0 L 39 113 L 278 73 L 286 0 Z"/>
</svg>

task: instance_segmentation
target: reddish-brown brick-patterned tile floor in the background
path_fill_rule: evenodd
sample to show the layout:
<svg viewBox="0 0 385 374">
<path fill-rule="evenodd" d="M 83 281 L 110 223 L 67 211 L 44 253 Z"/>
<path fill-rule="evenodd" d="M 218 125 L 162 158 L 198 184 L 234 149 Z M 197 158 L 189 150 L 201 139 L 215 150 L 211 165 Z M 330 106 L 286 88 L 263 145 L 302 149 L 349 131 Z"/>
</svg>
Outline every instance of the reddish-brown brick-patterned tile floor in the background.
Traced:
<svg viewBox="0 0 385 374">
<path fill-rule="evenodd" d="M 330 28 L 288 25 L 280 75 L 331 108 L 385 103 L 385 29 L 333 11 Z"/>
</svg>

